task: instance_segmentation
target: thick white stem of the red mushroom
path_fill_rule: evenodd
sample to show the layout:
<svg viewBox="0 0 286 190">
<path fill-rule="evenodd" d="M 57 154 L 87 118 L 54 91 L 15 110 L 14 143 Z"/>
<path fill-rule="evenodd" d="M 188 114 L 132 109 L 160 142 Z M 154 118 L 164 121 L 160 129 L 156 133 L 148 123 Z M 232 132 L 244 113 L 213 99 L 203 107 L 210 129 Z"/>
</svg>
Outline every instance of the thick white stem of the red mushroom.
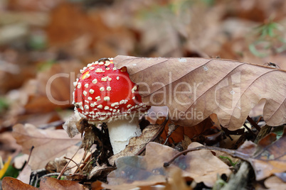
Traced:
<svg viewBox="0 0 286 190">
<path fill-rule="evenodd" d="M 130 138 L 138 137 L 142 134 L 138 121 L 139 118 L 136 116 L 134 118 L 120 118 L 107 123 L 114 155 L 125 150 Z"/>
</svg>

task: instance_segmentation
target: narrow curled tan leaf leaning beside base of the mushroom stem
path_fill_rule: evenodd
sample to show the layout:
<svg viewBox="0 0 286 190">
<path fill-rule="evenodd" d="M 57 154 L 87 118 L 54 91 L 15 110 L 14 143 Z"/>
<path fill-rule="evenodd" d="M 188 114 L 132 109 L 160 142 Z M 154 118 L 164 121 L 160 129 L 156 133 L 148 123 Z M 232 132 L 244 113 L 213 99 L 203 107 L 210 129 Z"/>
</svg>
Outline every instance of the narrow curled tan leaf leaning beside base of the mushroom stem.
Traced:
<svg viewBox="0 0 286 190">
<path fill-rule="evenodd" d="M 131 138 L 128 145 L 125 147 L 125 150 L 110 157 L 108 162 L 110 162 L 111 165 L 114 165 L 117 158 L 137 155 L 137 153 L 142 150 L 154 136 L 158 135 L 160 129 L 161 125 L 148 125 L 142 131 L 142 135 Z"/>
</svg>

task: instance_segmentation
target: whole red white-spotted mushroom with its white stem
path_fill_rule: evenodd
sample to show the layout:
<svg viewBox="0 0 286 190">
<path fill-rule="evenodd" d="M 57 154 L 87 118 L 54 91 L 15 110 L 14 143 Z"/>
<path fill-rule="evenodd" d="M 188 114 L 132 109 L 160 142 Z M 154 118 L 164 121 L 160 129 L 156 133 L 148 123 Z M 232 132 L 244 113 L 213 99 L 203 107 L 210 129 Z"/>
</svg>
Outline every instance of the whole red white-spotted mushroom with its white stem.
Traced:
<svg viewBox="0 0 286 190">
<path fill-rule="evenodd" d="M 147 111 L 137 85 L 126 67 L 117 69 L 113 58 L 100 59 L 80 70 L 74 82 L 73 104 L 90 123 L 107 123 L 114 154 L 125 149 L 129 139 L 142 134 L 139 113 Z"/>
</svg>

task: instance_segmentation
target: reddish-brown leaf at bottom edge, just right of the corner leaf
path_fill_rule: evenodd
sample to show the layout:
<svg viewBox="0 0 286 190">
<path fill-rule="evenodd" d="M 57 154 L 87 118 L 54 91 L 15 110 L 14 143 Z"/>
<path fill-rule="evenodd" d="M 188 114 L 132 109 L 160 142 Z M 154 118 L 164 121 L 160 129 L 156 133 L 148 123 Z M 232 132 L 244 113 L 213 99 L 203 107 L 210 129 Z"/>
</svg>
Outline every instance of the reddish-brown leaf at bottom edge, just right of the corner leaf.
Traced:
<svg viewBox="0 0 286 190">
<path fill-rule="evenodd" d="M 76 181 L 59 180 L 53 177 L 43 177 L 40 182 L 41 190 L 65 190 L 65 189 L 84 189 L 82 184 Z"/>
</svg>

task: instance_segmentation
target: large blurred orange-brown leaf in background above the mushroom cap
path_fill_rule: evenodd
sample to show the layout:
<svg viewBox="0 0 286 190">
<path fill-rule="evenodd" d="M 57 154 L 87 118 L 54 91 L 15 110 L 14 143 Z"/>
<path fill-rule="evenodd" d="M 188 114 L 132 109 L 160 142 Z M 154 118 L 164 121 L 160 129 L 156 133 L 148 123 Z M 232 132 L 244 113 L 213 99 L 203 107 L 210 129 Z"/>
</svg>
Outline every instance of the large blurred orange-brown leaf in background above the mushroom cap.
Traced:
<svg viewBox="0 0 286 190">
<path fill-rule="evenodd" d="M 89 52 L 90 61 L 120 52 L 128 54 L 134 49 L 134 36 L 127 28 L 108 26 L 102 18 L 103 12 L 98 9 L 87 13 L 76 4 L 60 4 L 51 11 L 46 27 L 49 44 L 73 56 L 85 55 L 85 59 Z"/>
</svg>

